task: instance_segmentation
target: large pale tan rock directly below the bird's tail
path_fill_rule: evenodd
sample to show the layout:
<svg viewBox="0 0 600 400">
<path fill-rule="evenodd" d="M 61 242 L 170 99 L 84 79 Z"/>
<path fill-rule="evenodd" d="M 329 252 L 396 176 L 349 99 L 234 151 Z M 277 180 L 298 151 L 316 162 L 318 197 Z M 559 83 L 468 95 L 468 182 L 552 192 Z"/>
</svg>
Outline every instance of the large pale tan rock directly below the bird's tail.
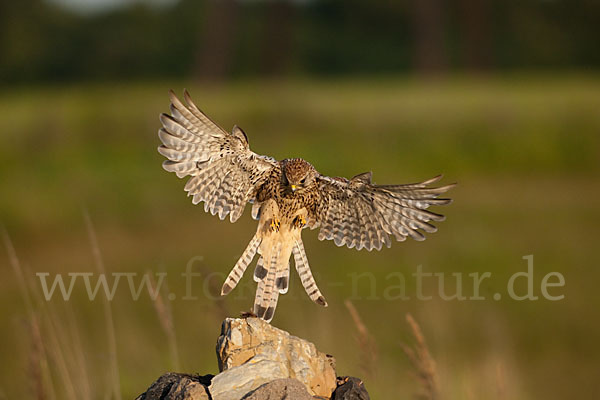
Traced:
<svg viewBox="0 0 600 400">
<path fill-rule="evenodd" d="M 258 318 L 227 318 L 217 341 L 217 358 L 219 370 L 223 372 L 213 379 L 210 387 L 214 400 L 220 399 L 213 393 L 213 386 L 222 390 L 225 382 L 234 383 L 234 377 L 242 379 L 242 376 L 245 376 L 241 383 L 244 388 L 253 386 L 249 391 L 277 378 L 297 379 L 312 396 L 330 398 L 336 388 L 335 360 L 332 356 L 321 353 L 314 344 Z M 258 364 L 260 367 L 257 367 Z M 240 369 L 240 366 L 244 368 Z M 235 375 L 228 376 L 227 372 L 236 368 L 235 372 L 232 371 Z M 255 371 L 260 371 L 261 375 L 253 376 Z M 264 373 L 269 371 L 275 375 L 267 379 Z M 225 378 L 221 375 L 225 375 Z M 253 382 L 247 385 L 251 380 Z M 236 383 L 240 386 L 239 381 Z"/>
</svg>

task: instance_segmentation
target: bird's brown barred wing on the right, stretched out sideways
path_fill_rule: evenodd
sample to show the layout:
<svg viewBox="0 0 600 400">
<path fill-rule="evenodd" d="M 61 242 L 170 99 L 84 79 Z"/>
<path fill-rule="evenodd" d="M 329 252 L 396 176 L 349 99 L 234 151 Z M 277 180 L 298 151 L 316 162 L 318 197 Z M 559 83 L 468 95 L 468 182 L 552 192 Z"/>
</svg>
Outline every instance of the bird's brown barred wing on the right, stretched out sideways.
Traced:
<svg viewBox="0 0 600 400">
<path fill-rule="evenodd" d="M 333 240 L 338 246 L 358 250 L 390 247 L 390 236 L 398 241 L 407 236 L 424 240 L 421 231 L 437 230 L 429 222 L 444 220 L 443 215 L 427 208 L 451 202 L 438 196 L 454 185 L 430 187 L 439 179 L 441 175 L 408 185 L 375 185 L 370 172 L 350 180 L 321 175 L 317 179 L 316 211 L 309 216 L 309 226 L 321 228 L 319 240 Z"/>
</svg>

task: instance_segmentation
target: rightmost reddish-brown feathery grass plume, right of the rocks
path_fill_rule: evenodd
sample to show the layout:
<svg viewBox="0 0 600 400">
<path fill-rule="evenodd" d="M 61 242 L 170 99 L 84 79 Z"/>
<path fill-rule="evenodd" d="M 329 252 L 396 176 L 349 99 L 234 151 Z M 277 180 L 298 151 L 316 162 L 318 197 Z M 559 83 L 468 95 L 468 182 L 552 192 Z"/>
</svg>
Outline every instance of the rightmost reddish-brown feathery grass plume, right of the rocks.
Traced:
<svg viewBox="0 0 600 400">
<path fill-rule="evenodd" d="M 406 322 L 408 322 L 415 338 L 415 344 L 411 347 L 401 343 L 401 346 L 408 356 L 414 368 L 414 374 L 421 386 L 421 392 L 415 397 L 423 400 L 437 400 L 440 398 L 440 395 L 435 361 L 429 353 L 425 336 L 423 336 L 423 332 L 421 332 L 421 327 L 417 321 L 415 321 L 412 315 L 406 314 Z"/>
</svg>

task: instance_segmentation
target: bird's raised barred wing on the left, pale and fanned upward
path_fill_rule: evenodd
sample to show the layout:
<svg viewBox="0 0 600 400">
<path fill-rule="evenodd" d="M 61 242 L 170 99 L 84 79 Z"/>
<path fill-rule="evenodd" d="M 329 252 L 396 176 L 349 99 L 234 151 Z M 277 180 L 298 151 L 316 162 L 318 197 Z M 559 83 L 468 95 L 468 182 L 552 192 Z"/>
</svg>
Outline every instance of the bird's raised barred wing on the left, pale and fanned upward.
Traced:
<svg viewBox="0 0 600 400">
<path fill-rule="evenodd" d="M 237 126 L 228 133 L 192 102 L 187 91 L 183 104 L 173 93 L 171 115 L 162 114 L 158 152 L 168 160 L 163 168 L 178 177 L 191 176 L 185 185 L 192 202 L 204 210 L 235 222 L 256 190 L 278 168 L 273 158 L 253 153 L 246 134 Z"/>
</svg>

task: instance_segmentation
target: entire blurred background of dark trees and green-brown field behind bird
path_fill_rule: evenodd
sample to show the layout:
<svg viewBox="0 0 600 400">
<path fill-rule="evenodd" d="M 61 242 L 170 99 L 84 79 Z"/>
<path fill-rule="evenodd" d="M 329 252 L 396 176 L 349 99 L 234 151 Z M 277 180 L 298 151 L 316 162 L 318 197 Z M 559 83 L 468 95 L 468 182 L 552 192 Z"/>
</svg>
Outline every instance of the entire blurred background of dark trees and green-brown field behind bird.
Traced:
<svg viewBox="0 0 600 400">
<path fill-rule="evenodd" d="M 425 242 L 368 253 L 304 233 L 329 307 L 292 273 L 273 324 L 335 355 L 372 398 L 423 390 L 407 313 L 441 398 L 600 393 L 599 40 L 593 0 L 2 2 L 0 399 L 134 398 L 166 371 L 217 372 L 220 322 L 250 307 L 254 284 L 213 295 L 255 222 L 205 214 L 161 168 L 170 88 L 259 154 L 377 183 L 459 182 Z M 556 271 L 564 299 L 494 300 L 529 254 L 535 294 Z M 190 260 L 198 298 L 182 300 Z M 466 295 L 467 274 L 491 272 L 486 300 L 444 301 L 435 282 L 417 300 L 419 265 L 449 293 L 462 273 Z M 43 300 L 36 273 L 101 267 L 137 283 L 167 273 L 168 288 L 134 301 L 123 281 L 112 302 L 90 301 L 79 281 L 69 301 Z M 389 298 L 398 272 L 409 300 Z"/>
</svg>

